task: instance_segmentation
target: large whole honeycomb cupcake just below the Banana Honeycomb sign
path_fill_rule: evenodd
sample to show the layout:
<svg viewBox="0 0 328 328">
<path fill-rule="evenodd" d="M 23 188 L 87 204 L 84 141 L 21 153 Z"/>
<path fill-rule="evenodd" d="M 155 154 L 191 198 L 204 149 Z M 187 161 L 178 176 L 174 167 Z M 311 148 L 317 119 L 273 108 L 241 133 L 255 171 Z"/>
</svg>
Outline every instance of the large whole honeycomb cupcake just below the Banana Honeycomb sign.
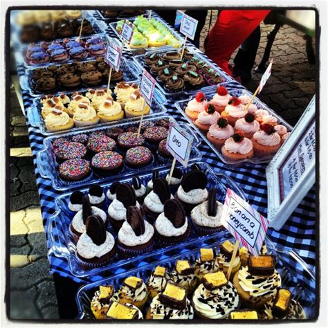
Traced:
<svg viewBox="0 0 328 328">
<path fill-rule="evenodd" d="M 233 278 L 243 307 L 260 309 L 273 300 L 281 286 L 280 274 L 275 270 L 273 255 L 250 255 L 248 265 L 242 266 Z"/>
</svg>

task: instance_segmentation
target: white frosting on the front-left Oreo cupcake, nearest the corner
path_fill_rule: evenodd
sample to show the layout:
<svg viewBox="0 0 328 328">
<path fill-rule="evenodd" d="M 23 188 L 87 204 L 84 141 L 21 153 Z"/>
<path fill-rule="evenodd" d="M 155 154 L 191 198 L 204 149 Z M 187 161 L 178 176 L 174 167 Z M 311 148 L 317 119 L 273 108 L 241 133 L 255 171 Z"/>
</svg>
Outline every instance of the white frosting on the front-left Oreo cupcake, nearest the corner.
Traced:
<svg viewBox="0 0 328 328">
<path fill-rule="evenodd" d="M 106 239 L 104 244 L 96 245 L 93 240 L 86 233 L 82 233 L 78 244 L 76 245 L 76 250 L 79 255 L 84 257 L 84 259 L 93 259 L 94 257 L 102 257 L 109 253 L 115 246 L 115 239 L 111 233 L 106 232 Z"/>
</svg>

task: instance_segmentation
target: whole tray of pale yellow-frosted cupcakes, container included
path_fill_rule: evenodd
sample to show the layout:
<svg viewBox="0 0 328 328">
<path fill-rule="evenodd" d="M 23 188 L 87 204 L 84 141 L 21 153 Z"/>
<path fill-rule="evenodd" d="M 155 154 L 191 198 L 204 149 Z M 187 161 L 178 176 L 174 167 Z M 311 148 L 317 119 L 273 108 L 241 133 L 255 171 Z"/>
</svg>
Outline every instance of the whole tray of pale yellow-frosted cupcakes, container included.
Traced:
<svg viewBox="0 0 328 328">
<path fill-rule="evenodd" d="M 78 93 L 64 92 L 36 97 L 33 107 L 26 111 L 28 122 L 33 127 L 38 127 L 42 134 L 51 136 L 64 131 L 79 131 L 86 126 L 112 126 L 120 122 L 140 120 L 142 113 L 144 118 L 165 114 L 166 99 L 157 89 L 154 91 L 152 105 L 143 109 L 138 83 L 119 82 L 108 93 L 107 89 L 84 89 Z M 64 111 L 62 115 L 66 120 L 71 120 L 71 125 L 57 125 L 57 122 L 52 121 L 57 118 L 53 109 Z M 92 115 L 84 118 L 83 124 L 78 116 L 85 111 L 90 111 Z"/>
</svg>

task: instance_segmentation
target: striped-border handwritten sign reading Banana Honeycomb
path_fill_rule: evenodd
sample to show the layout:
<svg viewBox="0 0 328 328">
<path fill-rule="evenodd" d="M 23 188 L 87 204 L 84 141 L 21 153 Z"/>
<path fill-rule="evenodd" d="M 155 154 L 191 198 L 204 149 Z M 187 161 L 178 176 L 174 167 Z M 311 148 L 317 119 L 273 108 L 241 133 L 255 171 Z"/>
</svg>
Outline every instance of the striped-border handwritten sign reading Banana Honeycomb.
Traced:
<svg viewBox="0 0 328 328">
<path fill-rule="evenodd" d="M 230 189 L 224 201 L 222 223 L 250 253 L 259 255 L 268 221 Z"/>
</svg>

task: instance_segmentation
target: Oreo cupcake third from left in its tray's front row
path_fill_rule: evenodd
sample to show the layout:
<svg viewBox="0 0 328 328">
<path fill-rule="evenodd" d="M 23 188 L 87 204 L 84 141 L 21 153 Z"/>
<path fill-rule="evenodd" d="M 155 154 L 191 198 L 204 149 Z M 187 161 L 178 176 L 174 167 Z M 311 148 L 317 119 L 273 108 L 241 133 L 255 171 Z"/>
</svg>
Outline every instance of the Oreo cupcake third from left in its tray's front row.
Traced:
<svg viewBox="0 0 328 328">
<path fill-rule="evenodd" d="M 156 240 L 163 246 L 184 242 L 190 235 L 183 206 L 175 199 L 165 201 L 164 212 L 158 215 L 154 226 Z"/>
</svg>

